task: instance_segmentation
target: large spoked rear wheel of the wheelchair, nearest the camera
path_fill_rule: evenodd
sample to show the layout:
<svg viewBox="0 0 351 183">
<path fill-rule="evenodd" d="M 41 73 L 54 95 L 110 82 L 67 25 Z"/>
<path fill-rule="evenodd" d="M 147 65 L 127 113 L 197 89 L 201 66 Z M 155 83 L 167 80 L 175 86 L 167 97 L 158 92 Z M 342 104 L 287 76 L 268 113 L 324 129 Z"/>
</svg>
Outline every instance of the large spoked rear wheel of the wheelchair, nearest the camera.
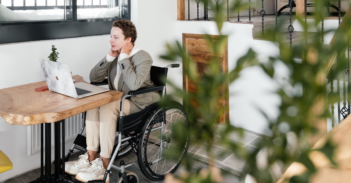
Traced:
<svg viewBox="0 0 351 183">
<path fill-rule="evenodd" d="M 138 143 L 138 163 L 141 172 L 152 181 L 163 180 L 167 173 L 176 171 L 188 149 L 189 136 L 184 147 L 179 147 L 180 143 L 173 140 L 172 128 L 176 124 L 189 127 L 184 107 L 179 102 L 172 101 L 168 106 L 151 113 L 142 129 L 143 134 Z M 167 153 L 171 147 L 181 149 L 179 157 L 164 156 L 163 153 Z"/>
</svg>

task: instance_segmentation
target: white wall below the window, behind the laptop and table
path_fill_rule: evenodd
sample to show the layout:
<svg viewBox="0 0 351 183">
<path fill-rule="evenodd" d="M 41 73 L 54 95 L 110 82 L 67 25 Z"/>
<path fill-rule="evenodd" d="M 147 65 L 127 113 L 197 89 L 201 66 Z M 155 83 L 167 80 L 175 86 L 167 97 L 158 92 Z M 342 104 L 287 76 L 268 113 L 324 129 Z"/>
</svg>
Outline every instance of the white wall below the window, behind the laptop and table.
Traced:
<svg viewBox="0 0 351 183">
<path fill-rule="evenodd" d="M 109 39 L 110 36 L 103 35 L 0 45 L 0 88 L 43 81 L 38 59 L 47 58 L 51 45 L 56 45 L 58 61 L 68 63 L 74 75 L 79 74 L 89 81 L 90 69 L 109 50 Z M 27 127 L 10 125 L 0 118 L 0 139 L 0 149 L 14 165 L 12 170 L 1 174 L 0 182 L 40 166 L 39 153 L 26 155 Z M 69 149 L 68 144 L 66 148 Z"/>
</svg>

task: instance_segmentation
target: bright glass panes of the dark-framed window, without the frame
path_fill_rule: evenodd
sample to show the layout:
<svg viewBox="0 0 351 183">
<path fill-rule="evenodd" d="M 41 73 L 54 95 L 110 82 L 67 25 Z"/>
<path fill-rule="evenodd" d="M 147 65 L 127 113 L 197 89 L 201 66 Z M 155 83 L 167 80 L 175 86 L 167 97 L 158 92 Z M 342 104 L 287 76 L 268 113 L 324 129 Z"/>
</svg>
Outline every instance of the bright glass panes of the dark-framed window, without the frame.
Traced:
<svg viewBox="0 0 351 183">
<path fill-rule="evenodd" d="M 13 5 L 11 0 L 0 0 L 0 22 L 65 20 L 64 5 L 65 0 L 13 0 Z M 77 0 L 77 19 L 123 18 L 127 14 L 127 0 Z M 72 16 L 68 13 L 67 17 Z"/>
</svg>

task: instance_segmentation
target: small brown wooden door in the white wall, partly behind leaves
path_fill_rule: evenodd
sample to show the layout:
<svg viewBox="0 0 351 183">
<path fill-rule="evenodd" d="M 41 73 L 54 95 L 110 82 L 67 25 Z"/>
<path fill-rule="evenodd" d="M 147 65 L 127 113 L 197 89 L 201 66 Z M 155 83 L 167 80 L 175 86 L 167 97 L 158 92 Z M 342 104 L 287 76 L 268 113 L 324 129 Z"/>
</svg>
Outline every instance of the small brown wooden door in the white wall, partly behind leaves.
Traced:
<svg viewBox="0 0 351 183">
<path fill-rule="evenodd" d="M 211 35 L 213 41 L 219 39 L 217 35 Z M 227 37 L 228 39 L 228 37 Z M 227 41 L 228 42 L 228 41 Z M 205 68 L 207 67 L 208 63 L 216 57 L 220 63 L 220 70 L 221 72 L 228 73 L 228 45 L 225 46 L 223 49 L 223 53 L 214 53 L 210 46 L 207 43 L 207 40 L 204 39 L 204 35 L 202 34 L 185 34 L 183 33 L 183 47 L 185 48 L 188 55 L 192 61 L 196 63 L 198 74 L 204 73 Z M 196 85 L 188 79 L 187 75 L 187 66 L 183 64 L 183 88 L 185 89 L 186 93 L 189 91 L 194 92 L 197 90 Z M 218 100 L 217 108 L 224 108 L 223 113 L 220 114 L 219 123 L 226 123 L 229 121 L 229 83 L 223 83 L 222 87 L 218 90 L 220 98 Z M 187 101 L 183 101 L 186 106 Z M 194 106 L 196 106 L 196 101 L 191 101 Z M 215 112 L 215 111 L 214 111 Z M 216 111 L 217 112 L 217 111 Z M 201 116 L 199 116 L 201 118 Z"/>
</svg>

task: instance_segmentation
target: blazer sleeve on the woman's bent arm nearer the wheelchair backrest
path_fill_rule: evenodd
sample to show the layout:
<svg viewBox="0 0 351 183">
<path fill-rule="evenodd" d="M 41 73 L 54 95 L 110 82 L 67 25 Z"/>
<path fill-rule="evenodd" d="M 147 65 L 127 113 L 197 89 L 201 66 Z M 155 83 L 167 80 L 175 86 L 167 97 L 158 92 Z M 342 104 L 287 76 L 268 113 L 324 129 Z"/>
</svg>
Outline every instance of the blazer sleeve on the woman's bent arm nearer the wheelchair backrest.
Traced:
<svg viewBox="0 0 351 183">
<path fill-rule="evenodd" d="M 134 64 L 131 64 L 131 61 L 127 58 L 118 62 L 124 82 L 129 90 L 137 90 L 143 85 L 150 75 L 150 68 L 153 62 L 151 56 L 144 50 L 137 52 L 133 57 L 139 58 L 137 61 L 134 61 Z"/>
</svg>

